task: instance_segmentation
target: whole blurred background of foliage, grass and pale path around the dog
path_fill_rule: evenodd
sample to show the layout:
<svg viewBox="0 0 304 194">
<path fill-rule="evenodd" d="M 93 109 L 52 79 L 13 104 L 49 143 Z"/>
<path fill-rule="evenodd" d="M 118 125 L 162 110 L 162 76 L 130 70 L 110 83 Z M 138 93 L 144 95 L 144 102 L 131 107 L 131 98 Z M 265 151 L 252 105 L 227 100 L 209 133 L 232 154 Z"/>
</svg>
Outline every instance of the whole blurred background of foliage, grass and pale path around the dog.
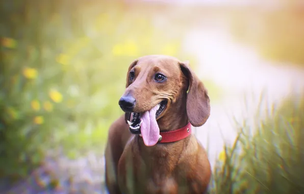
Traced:
<svg viewBox="0 0 304 194">
<path fill-rule="evenodd" d="M 304 2 L 0 1 L 0 193 L 106 193 L 129 64 L 189 60 L 210 193 L 303 193 Z"/>
</svg>

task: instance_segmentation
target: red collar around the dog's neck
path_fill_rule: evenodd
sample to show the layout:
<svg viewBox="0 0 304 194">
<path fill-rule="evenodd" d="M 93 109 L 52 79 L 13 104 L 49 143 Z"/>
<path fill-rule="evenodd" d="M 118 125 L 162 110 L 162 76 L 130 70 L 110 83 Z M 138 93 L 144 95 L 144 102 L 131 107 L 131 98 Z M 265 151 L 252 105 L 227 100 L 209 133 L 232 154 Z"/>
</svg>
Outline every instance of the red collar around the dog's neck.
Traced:
<svg viewBox="0 0 304 194">
<path fill-rule="evenodd" d="M 174 141 L 179 141 L 181 139 L 185 139 L 191 134 L 191 124 L 190 122 L 183 128 L 173 130 L 173 131 L 166 131 L 160 132 L 162 136 L 162 140 L 158 143 L 170 143 Z"/>
</svg>

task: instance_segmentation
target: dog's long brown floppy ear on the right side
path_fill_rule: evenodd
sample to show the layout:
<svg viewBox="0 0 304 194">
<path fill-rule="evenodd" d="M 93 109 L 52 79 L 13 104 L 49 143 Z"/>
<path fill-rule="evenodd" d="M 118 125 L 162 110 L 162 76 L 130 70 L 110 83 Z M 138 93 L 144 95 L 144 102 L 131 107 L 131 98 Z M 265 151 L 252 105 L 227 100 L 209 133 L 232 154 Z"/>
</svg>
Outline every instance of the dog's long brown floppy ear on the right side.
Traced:
<svg viewBox="0 0 304 194">
<path fill-rule="evenodd" d="M 189 67 L 189 62 L 180 62 L 183 74 L 189 80 L 187 93 L 187 115 L 192 126 L 199 127 L 206 123 L 210 115 L 210 100 L 204 84 Z"/>
</svg>

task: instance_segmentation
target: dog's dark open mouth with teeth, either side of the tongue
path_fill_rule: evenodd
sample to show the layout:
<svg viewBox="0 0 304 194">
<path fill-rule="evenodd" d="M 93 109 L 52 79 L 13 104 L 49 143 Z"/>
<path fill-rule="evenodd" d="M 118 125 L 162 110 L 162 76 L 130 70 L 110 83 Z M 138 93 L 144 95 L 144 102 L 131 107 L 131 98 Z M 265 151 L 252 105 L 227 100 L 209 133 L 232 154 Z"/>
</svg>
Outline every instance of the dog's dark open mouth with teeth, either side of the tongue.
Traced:
<svg viewBox="0 0 304 194">
<path fill-rule="evenodd" d="M 156 115 L 155 115 L 155 118 L 157 119 L 163 112 L 164 110 L 166 109 L 167 107 L 167 100 L 163 100 L 162 102 L 160 102 L 158 105 L 157 105 L 157 111 L 156 111 Z M 142 113 L 137 113 L 137 112 L 133 112 L 133 118 L 131 120 L 131 122 L 129 120 L 128 121 L 128 124 L 129 124 L 129 129 L 131 131 L 131 133 L 133 134 L 140 134 L 140 126 L 142 124 L 142 120 L 140 119 Z"/>
</svg>

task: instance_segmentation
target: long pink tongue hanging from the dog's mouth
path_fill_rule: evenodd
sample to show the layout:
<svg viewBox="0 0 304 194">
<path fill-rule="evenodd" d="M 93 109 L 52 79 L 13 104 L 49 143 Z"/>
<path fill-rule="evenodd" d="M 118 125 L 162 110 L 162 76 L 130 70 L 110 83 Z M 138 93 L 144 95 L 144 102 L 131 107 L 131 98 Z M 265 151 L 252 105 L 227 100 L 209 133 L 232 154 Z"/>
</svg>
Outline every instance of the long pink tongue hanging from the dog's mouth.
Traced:
<svg viewBox="0 0 304 194">
<path fill-rule="evenodd" d="M 146 146 L 154 146 L 159 139 L 159 127 L 156 122 L 157 106 L 144 112 L 140 116 L 142 121 L 140 126 L 143 142 Z"/>
</svg>

